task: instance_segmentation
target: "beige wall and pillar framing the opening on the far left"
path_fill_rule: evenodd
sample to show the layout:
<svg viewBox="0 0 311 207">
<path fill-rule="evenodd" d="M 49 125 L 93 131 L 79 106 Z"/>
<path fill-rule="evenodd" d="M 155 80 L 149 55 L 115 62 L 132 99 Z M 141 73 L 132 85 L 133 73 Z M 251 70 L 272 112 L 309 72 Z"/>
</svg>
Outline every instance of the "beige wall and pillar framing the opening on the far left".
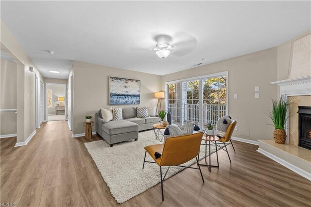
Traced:
<svg viewBox="0 0 311 207">
<path fill-rule="evenodd" d="M 35 131 L 35 74 L 43 77 L 2 21 L 1 51 L 17 63 L 17 142 L 24 142 Z"/>
</svg>

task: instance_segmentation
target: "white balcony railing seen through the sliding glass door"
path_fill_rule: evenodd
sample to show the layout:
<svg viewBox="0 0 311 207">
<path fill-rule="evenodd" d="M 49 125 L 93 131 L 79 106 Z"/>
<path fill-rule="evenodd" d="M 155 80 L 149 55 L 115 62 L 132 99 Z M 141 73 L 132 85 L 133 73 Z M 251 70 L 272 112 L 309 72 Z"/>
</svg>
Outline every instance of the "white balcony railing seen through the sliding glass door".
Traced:
<svg viewBox="0 0 311 207">
<path fill-rule="evenodd" d="M 177 108 L 177 104 L 169 104 L 173 121 L 180 121 L 180 108 Z M 184 104 L 182 107 L 182 116 L 184 121 L 191 121 L 199 123 L 199 104 Z M 220 117 L 225 116 L 226 105 L 225 104 L 203 104 L 202 108 L 202 122 L 203 124 L 209 121 L 216 125 Z"/>
</svg>

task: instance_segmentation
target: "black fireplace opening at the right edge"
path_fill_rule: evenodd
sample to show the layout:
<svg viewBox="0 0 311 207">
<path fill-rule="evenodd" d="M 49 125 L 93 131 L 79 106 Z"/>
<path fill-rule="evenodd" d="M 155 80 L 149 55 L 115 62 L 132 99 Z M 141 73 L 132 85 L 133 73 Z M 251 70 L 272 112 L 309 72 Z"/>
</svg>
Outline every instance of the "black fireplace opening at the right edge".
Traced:
<svg viewBox="0 0 311 207">
<path fill-rule="evenodd" d="M 311 150 L 311 106 L 298 106 L 299 146 Z"/>
</svg>

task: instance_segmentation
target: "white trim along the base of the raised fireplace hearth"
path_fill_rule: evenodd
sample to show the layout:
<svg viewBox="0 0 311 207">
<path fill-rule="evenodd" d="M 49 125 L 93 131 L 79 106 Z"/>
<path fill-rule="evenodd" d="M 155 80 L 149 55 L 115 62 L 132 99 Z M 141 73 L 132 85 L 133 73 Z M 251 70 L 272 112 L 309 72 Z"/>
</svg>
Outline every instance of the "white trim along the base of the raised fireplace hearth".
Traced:
<svg viewBox="0 0 311 207">
<path fill-rule="evenodd" d="M 298 168 L 297 166 L 294 166 L 293 164 L 277 157 L 276 155 L 272 155 L 271 153 L 265 151 L 265 150 L 262 150 L 260 148 L 258 148 L 257 152 L 261 153 L 262 155 L 265 155 L 267 157 L 269 157 L 270 159 L 276 161 L 277 163 L 283 165 L 284 167 L 290 169 L 291 171 L 294 171 L 295 173 L 303 176 L 304 178 L 307 178 L 308 180 L 311 181 L 311 174 L 302 170 L 301 168 Z"/>
</svg>

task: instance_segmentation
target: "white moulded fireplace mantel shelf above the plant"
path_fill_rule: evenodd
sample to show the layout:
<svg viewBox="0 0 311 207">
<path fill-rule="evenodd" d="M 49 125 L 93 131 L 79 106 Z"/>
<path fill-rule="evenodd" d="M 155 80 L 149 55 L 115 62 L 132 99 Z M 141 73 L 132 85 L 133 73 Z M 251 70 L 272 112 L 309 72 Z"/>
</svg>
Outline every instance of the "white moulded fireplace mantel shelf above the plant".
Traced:
<svg viewBox="0 0 311 207">
<path fill-rule="evenodd" d="M 311 76 L 287 79 L 272 82 L 280 86 L 280 95 L 285 96 L 307 96 L 311 95 Z"/>
</svg>

